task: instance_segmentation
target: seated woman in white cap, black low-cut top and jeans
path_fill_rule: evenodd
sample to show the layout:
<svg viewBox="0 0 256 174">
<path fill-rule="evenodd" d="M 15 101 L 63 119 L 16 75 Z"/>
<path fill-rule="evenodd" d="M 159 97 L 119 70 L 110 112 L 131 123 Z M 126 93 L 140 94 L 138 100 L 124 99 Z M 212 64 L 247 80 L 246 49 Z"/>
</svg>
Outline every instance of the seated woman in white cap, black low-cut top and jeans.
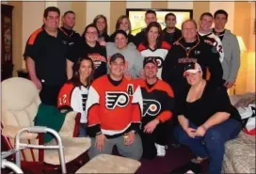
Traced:
<svg viewBox="0 0 256 174">
<path fill-rule="evenodd" d="M 220 173 L 224 144 L 241 131 L 241 117 L 227 91 L 202 78 L 200 64 L 188 64 L 184 76 L 191 87 L 177 106 L 180 124 L 174 136 L 197 156 L 192 162 L 200 164 L 209 158 L 208 173 Z"/>
</svg>

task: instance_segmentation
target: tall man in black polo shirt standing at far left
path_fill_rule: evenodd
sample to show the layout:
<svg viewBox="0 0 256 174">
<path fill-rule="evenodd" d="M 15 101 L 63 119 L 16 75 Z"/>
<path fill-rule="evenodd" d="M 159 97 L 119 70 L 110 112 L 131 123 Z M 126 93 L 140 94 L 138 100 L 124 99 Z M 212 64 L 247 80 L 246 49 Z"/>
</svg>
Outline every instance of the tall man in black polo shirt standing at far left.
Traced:
<svg viewBox="0 0 256 174">
<path fill-rule="evenodd" d="M 59 9 L 45 8 L 43 25 L 27 40 L 24 59 L 32 82 L 40 89 L 41 103 L 56 105 L 57 94 L 67 79 L 68 40 L 58 29 Z"/>
</svg>

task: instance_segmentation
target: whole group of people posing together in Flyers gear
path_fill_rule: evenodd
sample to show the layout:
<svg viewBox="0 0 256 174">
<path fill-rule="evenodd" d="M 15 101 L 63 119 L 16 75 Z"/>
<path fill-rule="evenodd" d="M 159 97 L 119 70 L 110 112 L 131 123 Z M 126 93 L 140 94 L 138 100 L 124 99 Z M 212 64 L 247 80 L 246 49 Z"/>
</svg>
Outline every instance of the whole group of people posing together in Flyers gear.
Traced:
<svg viewBox="0 0 256 174">
<path fill-rule="evenodd" d="M 240 66 L 227 21 L 219 9 L 201 14 L 199 27 L 189 19 L 180 30 L 168 13 L 162 30 L 148 10 L 147 27 L 136 36 L 126 15 L 108 36 L 106 18 L 98 15 L 80 36 L 72 29 L 73 11 L 59 27 L 60 11 L 49 7 L 24 59 L 41 103 L 81 113 L 79 135 L 91 137 L 90 158 L 114 146 L 137 160 L 165 156 L 173 119 L 173 134 L 197 156 L 193 161 L 209 158 L 209 173 L 220 173 L 224 143 L 241 130 L 227 93 Z"/>
</svg>

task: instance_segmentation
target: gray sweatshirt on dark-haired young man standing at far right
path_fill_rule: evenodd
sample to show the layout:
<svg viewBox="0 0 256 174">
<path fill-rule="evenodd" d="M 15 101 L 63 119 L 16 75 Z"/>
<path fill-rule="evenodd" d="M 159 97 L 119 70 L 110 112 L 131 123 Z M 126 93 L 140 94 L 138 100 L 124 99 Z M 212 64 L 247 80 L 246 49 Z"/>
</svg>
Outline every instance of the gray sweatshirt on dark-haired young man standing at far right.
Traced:
<svg viewBox="0 0 256 174">
<path fill-rule="evenodd" d="M 240 48 L 236 36 L 228 29 L 225 29 L 222 46 L 224 51 L 224 60 L 221 62 L 223 79 L 234 82 L 240 68 Z"/>
</svg>

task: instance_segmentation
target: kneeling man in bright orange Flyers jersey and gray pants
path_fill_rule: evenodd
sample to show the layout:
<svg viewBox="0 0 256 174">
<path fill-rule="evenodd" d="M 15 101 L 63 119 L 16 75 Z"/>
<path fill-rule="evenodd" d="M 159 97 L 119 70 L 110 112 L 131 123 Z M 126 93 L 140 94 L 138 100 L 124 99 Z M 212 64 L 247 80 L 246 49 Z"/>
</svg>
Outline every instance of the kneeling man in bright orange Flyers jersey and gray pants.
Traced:
<svg viewBox="0 0 256 174">
<path fill-rule="evenodd" d="M 86 115 L 91 137 L 89 158 L 111 154 L 116 145 L 122 156 L 140 159 L 139 134 L 143 110 L 140 87 L 124 77 L 125 59 L 114 54 L 108 62 L 109 74 L 96 79 L 89 87 Z M 85 117 L 83 116 L 83 117 Z"/>
</svg>

